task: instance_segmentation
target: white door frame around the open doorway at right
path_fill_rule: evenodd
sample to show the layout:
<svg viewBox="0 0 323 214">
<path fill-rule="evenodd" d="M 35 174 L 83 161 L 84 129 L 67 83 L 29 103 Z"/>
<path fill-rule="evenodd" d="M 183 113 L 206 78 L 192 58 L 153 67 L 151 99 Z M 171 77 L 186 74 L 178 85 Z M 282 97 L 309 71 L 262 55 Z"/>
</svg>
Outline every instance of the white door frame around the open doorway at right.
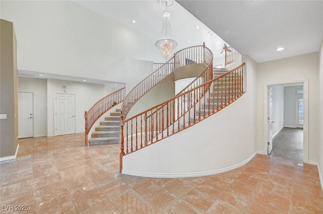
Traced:
<svg viewBox="0 0 323 214">
<path fill-rule="evenodd" d="M 303 162 L 308 163 L 308 79 L 305 80 L 294 80 L 294 81 L 285 81 L 285 82 L 274 82 L 274 83 L 264 83 L 263 84 L 263 151 L 262 154 L 267 154 L 267 114 L 268 114 L 268 86 L 272 85 L 284 85 L 291 83 L 303 83 L 303 99 L 304 99 L 304 124 L 303 124 Z"/>
</svg>

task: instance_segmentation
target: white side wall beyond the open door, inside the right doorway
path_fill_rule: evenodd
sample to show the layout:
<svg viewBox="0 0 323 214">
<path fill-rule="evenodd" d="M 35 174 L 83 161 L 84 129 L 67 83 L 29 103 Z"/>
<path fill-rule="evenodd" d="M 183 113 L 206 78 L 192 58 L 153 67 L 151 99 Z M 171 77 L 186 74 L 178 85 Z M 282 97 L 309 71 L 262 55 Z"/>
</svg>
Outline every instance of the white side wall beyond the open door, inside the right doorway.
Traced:
<svg viewBox="0 0 323 214">
<path fill-rule="evenodd" d="M 277 85 L 273 88 L 273 137 L 284 127 L 284 87 Z"/>
</svg>

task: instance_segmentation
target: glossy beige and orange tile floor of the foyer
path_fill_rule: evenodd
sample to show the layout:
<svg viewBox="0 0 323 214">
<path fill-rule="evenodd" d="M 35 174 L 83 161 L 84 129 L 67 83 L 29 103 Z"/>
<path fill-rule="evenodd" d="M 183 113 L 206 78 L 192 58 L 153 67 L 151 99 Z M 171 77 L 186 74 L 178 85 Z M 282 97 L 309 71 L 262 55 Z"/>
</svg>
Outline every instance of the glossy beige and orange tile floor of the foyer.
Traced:
<svg viewBox="0 0 323 214">
<path fill-rule="evenodd" d="M 257 155 L 218 175 L 142 178 L 119 173 L 119 145 L 83 137 L 20 139 L 17 159 L 0 165 L 1 213 L 323 213 L 313 165 Z"/>
</svg>

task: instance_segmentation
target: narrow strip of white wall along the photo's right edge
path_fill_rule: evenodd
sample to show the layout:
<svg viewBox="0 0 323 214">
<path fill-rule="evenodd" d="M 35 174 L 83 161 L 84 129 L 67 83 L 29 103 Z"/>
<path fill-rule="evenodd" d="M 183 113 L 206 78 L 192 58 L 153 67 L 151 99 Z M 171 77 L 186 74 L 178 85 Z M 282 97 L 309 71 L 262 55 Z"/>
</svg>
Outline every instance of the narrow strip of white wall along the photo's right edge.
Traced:
<svg viewBox="0 0 323 214">
<path fill-rule="evenodd" d="M 323 191 L 323 39 L 319 48 L 319 141 L 318 141 L 318 171 Z"/>
</svg>

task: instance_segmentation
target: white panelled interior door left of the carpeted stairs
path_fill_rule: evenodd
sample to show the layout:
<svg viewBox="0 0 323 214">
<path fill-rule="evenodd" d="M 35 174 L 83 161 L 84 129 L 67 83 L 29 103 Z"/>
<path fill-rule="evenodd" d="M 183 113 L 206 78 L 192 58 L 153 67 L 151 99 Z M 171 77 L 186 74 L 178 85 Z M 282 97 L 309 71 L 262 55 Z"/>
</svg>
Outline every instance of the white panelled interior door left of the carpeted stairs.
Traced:
<svg viewBox="0 0 323 214">
<path fill-rule="evenodd" d="M 56 135 L 75 133 L 75 95 L 56 94 Z"/>
</svg>

